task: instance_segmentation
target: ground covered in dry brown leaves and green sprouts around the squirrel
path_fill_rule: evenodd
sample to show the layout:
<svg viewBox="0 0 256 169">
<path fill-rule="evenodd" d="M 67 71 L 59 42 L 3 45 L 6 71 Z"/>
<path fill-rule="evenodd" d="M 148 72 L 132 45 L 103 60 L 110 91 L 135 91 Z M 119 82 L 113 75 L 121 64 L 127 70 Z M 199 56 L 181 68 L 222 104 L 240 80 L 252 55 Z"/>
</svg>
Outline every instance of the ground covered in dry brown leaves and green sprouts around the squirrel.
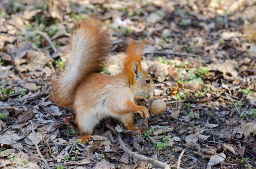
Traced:
<svg viewBox="0 0 256 169">
<path fill-rule="evenodd" d="M 118 134 L 171 167 L 256 168 L 255 10 L 235 0 L 1 1 L 1 168 L 159 168 L 125 153 Z M 73 110 L 51 99 L 73 25 L 90 15 L 110 34 L 103 73 L 118 73 L 128 42 L 146 38 L 142 66 L 156 87 L 147 108 L 160 99 L 167 109 L 135 114 L 142 134 L 105 119 L 80 144 Z"/>
</svg>

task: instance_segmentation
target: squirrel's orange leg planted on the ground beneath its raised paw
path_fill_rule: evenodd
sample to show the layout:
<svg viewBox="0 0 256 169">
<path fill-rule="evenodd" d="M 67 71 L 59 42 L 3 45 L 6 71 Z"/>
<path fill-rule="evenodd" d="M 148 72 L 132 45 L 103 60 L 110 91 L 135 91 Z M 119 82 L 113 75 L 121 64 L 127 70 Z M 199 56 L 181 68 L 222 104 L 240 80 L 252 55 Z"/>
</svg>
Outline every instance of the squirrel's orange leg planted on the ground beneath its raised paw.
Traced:
<svg viewBox="0 0 256 169">
<path fill-rule="evenodd" d="M 128 114 L 119 116 L 120 121 L 123 123 L 124 127 L 127 130 L 136 130 L 136 131 L 139 131 L 141 134 L 142 128 L 134 126 L 132 118 L 133 118 L 133 113 L 128 113 Z"/>
</svg>

